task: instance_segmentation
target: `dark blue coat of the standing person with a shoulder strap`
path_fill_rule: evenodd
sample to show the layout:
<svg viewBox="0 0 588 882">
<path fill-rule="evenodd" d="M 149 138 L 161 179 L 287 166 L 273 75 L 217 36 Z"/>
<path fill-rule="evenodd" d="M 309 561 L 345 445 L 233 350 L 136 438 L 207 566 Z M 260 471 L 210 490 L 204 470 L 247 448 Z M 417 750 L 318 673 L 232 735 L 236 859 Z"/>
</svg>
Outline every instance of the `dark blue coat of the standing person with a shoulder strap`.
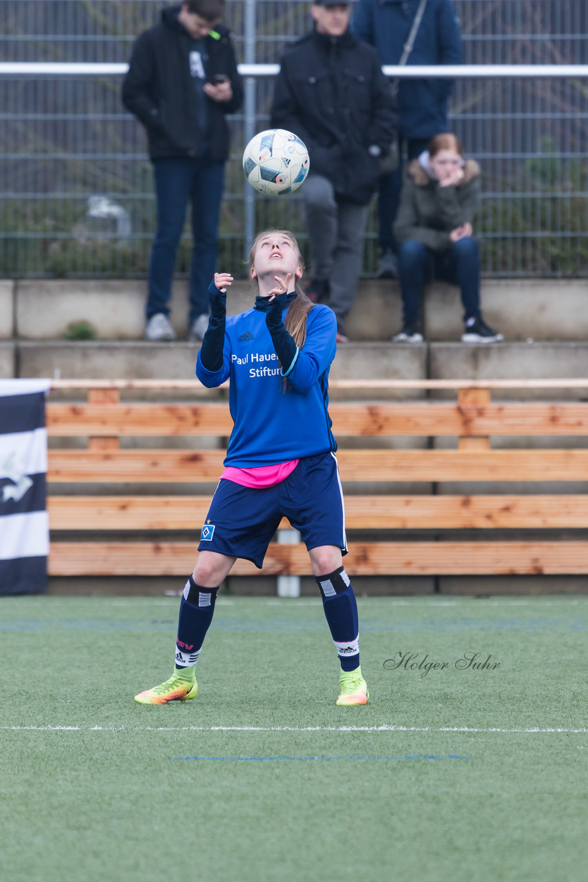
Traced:
<svg viewBox="0 0 588 882">
<path fill-rule="evenodd" d="M 419 0 L 360 0 L 352 30 L 376 47 L 382 64 L 398 64 L 418 7 Z M 428 0 L 406 64 L 460 63 L 461 37 L 450 0 Z M 451 79 L 401 79 L 400 135 L 416 140 L 448 131 L 447 101 L 452 87 Z"/>
</svg>

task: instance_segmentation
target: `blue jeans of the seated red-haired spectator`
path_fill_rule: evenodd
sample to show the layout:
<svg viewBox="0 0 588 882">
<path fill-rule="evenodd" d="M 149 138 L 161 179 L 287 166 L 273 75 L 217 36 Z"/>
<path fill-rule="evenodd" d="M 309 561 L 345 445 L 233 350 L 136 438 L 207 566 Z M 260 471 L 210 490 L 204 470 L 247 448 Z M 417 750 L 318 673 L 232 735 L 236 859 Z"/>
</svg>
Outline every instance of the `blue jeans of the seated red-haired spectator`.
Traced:
<svg viewBox="0 0 588 882">
<path fill-rule="evenodd" d="M 398 248 L 398 279 L 405 325 L 419 325 L 423 289 L 433 279 L 458 285 L 464 321 L 480 317 L 480 250 L 472 236 L 458 239 L 441 252 L 407 239 Z"/>
</svg>

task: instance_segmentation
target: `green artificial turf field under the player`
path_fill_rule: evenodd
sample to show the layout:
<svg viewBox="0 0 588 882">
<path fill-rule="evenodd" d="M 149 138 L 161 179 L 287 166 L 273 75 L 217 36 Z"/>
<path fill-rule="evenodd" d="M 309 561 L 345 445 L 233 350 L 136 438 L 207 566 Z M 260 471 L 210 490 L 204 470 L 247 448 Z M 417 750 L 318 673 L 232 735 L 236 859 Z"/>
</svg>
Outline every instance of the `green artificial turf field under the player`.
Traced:
<svg viewBox="0 0 588 882">
<path fill-rule="evenodd" d="M 0 598 L 0 878 L 586 878 L 588 598 L 361 599 L 365 707 L 320 600 L 220 598 L 197 699 L 139 706 L 178 605 Z"/>
</svg>

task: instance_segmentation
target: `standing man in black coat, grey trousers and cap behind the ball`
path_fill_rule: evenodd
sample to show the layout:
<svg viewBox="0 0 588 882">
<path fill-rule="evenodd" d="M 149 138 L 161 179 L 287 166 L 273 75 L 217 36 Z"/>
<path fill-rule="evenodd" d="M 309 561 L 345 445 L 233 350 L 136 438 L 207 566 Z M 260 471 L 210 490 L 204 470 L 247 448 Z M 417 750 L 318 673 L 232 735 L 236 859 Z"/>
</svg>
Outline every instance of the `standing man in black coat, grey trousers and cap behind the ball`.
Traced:
<svg viewBox="0 0 588 882">
<path fill-rule="evenodd" d="M 349 30 L 351 5 L 316 0 L 315 27 L 287 49 L 276 78 L 272 126 L 293 131 L 309 148 L 301 187 L 313 279 L 307 295 L 329 299 L 338 340 L 354 305 L 368 202 L 396 125 L 390 88 L 376 49 Z"/>
</svg>

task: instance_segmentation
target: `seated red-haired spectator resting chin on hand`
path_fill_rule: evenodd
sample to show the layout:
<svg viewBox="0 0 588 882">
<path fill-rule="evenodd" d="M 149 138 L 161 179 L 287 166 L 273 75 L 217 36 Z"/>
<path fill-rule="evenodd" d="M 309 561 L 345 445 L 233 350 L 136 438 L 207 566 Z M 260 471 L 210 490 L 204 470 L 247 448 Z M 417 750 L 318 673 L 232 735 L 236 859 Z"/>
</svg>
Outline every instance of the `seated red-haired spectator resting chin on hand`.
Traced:
<svg viewBox="0 0 588 882">
<path fill-rule="evenodd" d="M 480 251 L 473 217 L 480 196 L 480 166 L 464 159 L 451 132 L 431 138 L 428 150 L 408 167 L 394 233 L 404 310 L 395 343 L 421 343 L 421 303 L 428 281 L 458 285 L 464 306 L 465 343 L 496 343 L 496 333 L 480 308 Z"/>
</svg>

